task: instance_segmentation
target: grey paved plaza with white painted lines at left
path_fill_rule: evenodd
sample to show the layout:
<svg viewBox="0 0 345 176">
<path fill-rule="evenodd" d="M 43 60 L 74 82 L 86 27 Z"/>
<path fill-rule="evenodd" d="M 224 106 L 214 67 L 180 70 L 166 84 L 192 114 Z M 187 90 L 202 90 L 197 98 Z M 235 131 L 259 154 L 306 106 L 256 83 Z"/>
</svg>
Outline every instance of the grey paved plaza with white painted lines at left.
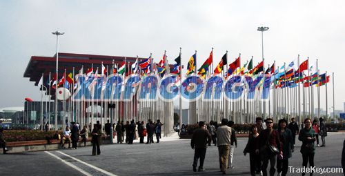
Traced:
<svg viewBox="0 0 345 176">
<path fill-rule="evenodd" d="M 326 147 L 316 148 L 315 166 L 341 167 L 342 144 L 345 133 L 328 133 Z M 146 141 L 146 139 L 145 139 Z M 238 139 L 234 166 L 227 175 L 250 175 L 249 156 L 243 155 L 247 138 Z M 289 160 L 289 166 L 301 167 L 302 155 L 298 141 Z M 189 139 L 177 135 L 162 138 L 159 144 L 107 144 L 101 146 L 101 155 L 92 156 L 92 147 L 77 150 L 51 150 L 0 155 L 2 175 L 221 175 L 216 146 L 207 149 L 203 173 L 192 170 L 194 150 Z M 288 173 L 288 175 L 301 175 Z M 308 174 L 307 174 L 308 175 Z M 320 175 L 315 173 L 315 175 Z M 324 173 L 323 175 L 343 175 Z"/>
</svg>

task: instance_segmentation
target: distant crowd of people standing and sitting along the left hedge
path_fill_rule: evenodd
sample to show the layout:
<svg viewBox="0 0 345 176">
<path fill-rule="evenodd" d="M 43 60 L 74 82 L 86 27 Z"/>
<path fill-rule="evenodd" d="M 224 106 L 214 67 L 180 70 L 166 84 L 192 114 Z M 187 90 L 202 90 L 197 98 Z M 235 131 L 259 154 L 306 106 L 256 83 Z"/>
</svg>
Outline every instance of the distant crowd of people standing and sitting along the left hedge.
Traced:
<svg viewBox="0 0 345 176">
<path fill-rule="evenodd" d="M 134 139 L 137 137 L 139 138 L 139 144 L 144 144 L 144 137 L 147 136 L 146 144 L 155 143 L 153 139 L 153 135 L 156 135 L 156 143 L 159 143 L 159 139 L 161 139 L 161 126 L 164 124 L 161 123 L 159 119 L 154 123 L 152 120 L 149 120 L 146 126 L 144 125 L 144 121 L 138 121 L 135 124 L 134 119 L 131 121 L 126 121 L 124 124 L 123 121 L 117 121 L 117 124 L 110 124 L 109 120 L 104 125 L 104 131 L 106 136 L 112 135 L 115 137 L 117 136 L 117 144 L 133 144 Z M 91 125 L 91 124 L 90 124 Z M 91 143 L 92 143 L 92 155 L 101 154 L 101 150 L 99 148 L 99 144 L 101 144 L 101 124 L 97 121 L 91 130 L 91 126 L 89 125 L 90 134 L 92 136 Z M 111 129 L 113 128 L 113 134 L 111 133 Z M 55 134 L 52 139 L 61 139 L 61 148 L 66 148 L 65 144 L 68 144 L 68 148 L 71 148 L 70 144 L 72 144 L 72 148 L 77 149 L 77 143 L 79 138 L 83 142 L 84 146 L 86 146 L 86 141 L 88 139 L 88 126 L 83 126 L 82 129 L 79 128 L 79 124 L 75 122 L 71 122 L 70 126 L 66 126 L 66 129 L 63 130 L 62 135 L 59 135 L 59 132 Z M 126 134 L 126 139 L 125 139 Z"/>
</svg>

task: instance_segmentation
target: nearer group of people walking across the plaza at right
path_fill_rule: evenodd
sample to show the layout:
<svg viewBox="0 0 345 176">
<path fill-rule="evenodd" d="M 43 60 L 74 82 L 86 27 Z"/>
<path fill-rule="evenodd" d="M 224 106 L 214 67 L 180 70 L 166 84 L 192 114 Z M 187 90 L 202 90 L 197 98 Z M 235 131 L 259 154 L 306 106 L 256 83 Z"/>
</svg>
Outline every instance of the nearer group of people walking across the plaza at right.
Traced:
<svg viewBox="0 0 345 176">
<path fill-rule="evenodd" d="M 292 157 L 295 151 L 295 136 L 302 141 L 300 153 L 302 154 L 302 166 L 314 166 L 315 141 L 319 146 L 318 136 L 322 138 L 322 146 L 326 146 L 325 137 L 327 135 L 324 119 L 312 121 L 309 118 L 304 119 L 304 127 L 299 130 L 299 126 L 292 118 L 290 123 L 286 119 L 279 119 L 277 129 L 273 128 L 273 119 L 256 118 L 256 124 L 250 126 L 248 142 L 244 147 L 244 155 L 249 153 L 250 175 L 286 175 L 288 173 L 288 159 Z M 221 124 L 210 121 L 206 124 L 199 121 L 199 128 L 194 133 L 190 146 L 195 150 L 193 171 L 204 171 L 204 159 L 206 148 L 211 143 L 217 145 L 219 153 L 219 168 L 223 174 L 227 169 L 234 168 L 233 153 L 237 148 L 237 138 L 233 121 L 222 119 Z M 197 162 L 199 160 L 199 167 Z M 267 171 L 268 164 L 270 168 Z M 310 173 L 313 175 L 313 173 Z M 302 173 L 305 175 L 305 173 Z"/>
</svg>

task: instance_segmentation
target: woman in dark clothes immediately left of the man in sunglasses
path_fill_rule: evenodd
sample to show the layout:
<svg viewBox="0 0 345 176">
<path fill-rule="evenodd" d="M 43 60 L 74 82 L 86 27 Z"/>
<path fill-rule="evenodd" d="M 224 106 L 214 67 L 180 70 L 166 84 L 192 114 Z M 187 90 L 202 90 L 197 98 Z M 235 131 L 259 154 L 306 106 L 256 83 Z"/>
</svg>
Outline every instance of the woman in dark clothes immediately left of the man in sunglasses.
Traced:
<svg viewBox="0 0 345 176">
<path fill-rule="evenodd" d="M 255 173 L 260 173 L 261 170 L 261 160 L 259 151 L 255 151 L 255 146 L 258 145 L 259 133 L 257 133 L 257 126 L 252 125 L 250 127 L 250 133 L 248 136 L 248 142 L 244 148 L 244 156 L 249 153 L 249 165 L 250 165 L 250 175 L 255 176 Z"/>
</svg>

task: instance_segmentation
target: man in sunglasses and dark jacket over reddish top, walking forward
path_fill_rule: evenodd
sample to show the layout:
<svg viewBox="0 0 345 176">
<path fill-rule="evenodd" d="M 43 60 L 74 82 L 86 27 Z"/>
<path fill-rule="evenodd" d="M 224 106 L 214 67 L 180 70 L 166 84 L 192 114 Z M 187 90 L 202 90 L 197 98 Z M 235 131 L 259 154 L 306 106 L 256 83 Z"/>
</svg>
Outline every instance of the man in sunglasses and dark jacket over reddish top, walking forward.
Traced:
<svg viewBox="0 0 345 176">
<path fill-rule="evenodd" d="M 270 162 L 270 175 L 275 175 L 276 155 L 282 155 L 282 143 L 277 130 L 273 129 L 273 119 L 266 119 L 266 130 L 262 130 L 259 135 L 259 147 L 257 151 L 262 159 L 262 174 L 267 175 L 267 166 Z"/>
</svg>

